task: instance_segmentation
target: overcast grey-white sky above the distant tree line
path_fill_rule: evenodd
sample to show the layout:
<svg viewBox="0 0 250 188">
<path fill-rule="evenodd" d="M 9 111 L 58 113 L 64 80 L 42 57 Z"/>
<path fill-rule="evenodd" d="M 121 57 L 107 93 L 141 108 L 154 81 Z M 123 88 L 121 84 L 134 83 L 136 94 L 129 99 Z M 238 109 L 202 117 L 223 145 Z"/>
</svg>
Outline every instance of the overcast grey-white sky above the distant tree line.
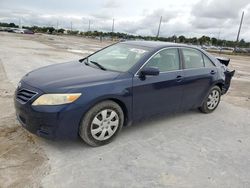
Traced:
<svg viewBox="0 0 250 188">
<path fill-rule="evenodd" d="M 0 0 L 0 22 L 160 36 L 250 41 L 250 0 Z"/>
</svg>

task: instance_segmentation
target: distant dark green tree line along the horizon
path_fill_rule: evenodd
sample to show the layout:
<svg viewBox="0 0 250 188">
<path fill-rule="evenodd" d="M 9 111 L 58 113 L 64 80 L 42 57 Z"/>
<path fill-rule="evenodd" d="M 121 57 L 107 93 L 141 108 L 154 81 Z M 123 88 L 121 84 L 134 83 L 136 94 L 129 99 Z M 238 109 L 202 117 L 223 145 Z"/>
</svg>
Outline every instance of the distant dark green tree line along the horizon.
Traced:
<svg viewBox="0 0 250 188">
<path fill-rule="evenodd" d="M 0 27 L 11 27 L 11 28 L 18 28 L 18 25 L 14 23 L 1 23 Z M 32 30 L 35 33 L 48 33 L 48 34 L 70 34 L 70 35 L 80 35 L 85 37 L 92 37 L 92 38 L 117 38 L 117 39 L 128 39 L 128 40 L 158 40 L 158 41 L 165 41 L 165 42 L 178 42 L 178 43 L 185 43 L 185 44 L 193 44 L 193 45 L 213 45 L 213 46 L 220 46 L 220 47 L 242 47 L 242 48 L 250 48 L 250 42 L 246 42 L 244 39 L 241 39 L 238 44 L 236 41 L 231 40 L 222 40 L 217 39 L 215 37 L 209 36 L 202 36 L 202 37 L 190 37 L 187 38 L 184 35 L 180 36 L 170 36 L 170 37 L 155 37 L 155 36 L 141 36 L 141 35 L 132 35 L 127 33 L 121 32 L 102 32 L 102 31 L 77 31 L 77 30 L 65 30 L 63 28 L 56 29 L 54 27 L 39 27 L 39 26 L 23 26 L 24 29 Z"/>
</svg>

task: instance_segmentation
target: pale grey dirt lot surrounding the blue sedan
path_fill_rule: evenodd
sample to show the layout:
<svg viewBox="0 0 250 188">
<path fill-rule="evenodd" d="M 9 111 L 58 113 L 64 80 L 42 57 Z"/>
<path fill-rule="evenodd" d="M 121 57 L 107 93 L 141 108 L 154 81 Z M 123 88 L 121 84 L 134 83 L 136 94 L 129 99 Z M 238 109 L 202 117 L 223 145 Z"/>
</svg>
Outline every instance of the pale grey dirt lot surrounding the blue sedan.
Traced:
<svg viewBox="0 0 250 188">
<path fill-rule="evenodd" d="M 17 123 L 13 93 L 25 73 L 108 44 L 0 33 L 0 187 L 250 187 L 250 57 L 230 57 L 236 76 L 214 113 L 155 117 L 107 146 L 45 140 Z"/>
</svg>

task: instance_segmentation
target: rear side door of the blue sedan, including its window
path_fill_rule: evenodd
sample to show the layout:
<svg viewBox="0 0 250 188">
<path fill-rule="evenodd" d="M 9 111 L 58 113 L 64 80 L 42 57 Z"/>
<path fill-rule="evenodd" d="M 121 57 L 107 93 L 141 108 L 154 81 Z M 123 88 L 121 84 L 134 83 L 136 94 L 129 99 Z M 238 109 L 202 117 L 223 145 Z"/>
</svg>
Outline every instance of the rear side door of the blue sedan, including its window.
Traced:
<svg viewBox="0 0 250 188">
<path fill-rule="evenodd" d="M 182 109 L 199 107 L 217 78 L 217 69 L 212 61 L 201 51 L 181 48 L 183 69 Z"/>
</svg>

